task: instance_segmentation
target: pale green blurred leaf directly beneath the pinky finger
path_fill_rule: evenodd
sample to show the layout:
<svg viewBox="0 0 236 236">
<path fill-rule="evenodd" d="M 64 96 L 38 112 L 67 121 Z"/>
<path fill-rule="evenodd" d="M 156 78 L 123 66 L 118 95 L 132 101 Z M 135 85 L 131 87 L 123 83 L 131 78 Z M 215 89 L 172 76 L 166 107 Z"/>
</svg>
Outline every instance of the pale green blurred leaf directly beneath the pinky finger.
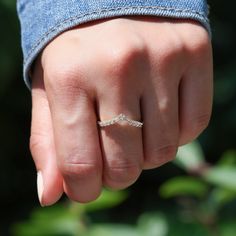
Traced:
<svg viewBox="0 0 236 236">
<path fill-rule="evenodd" d="M 174 163 L 187 171 L 201 168 L 205 164 L 205 161 L 200 144 L 194 141 L 180 147 Z"/>
</svg>

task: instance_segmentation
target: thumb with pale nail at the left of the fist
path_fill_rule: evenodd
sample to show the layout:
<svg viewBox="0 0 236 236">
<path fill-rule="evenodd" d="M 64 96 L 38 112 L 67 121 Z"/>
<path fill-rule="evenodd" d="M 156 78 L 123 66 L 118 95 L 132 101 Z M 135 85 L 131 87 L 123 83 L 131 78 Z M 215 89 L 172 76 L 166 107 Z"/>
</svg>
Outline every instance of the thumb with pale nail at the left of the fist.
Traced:
<svg viewBox="0 0 236 236">
<path fill-rule="evenodd" d="M 63 194 L 63 179 L 56 162 L 51 114 L 42 72 L 40 68 L 38 71 L 37 69 L 32 84 L 30 150 L 38 171 L 37 186 L 40 204 L 49 206 L 57 202 Z"/>
</svg>

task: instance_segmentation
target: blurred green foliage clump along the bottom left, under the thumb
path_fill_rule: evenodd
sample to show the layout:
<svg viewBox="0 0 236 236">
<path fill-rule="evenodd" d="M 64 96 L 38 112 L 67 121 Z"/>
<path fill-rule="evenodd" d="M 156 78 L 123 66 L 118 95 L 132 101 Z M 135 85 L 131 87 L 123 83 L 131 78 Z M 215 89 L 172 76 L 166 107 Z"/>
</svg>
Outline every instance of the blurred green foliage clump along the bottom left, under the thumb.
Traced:
<svg viewBox="0 0 236 236">
<path fill-rule="evenodd" d="M 136 226 L 128 224 L 91 223 L 88 212 L 107 209 L 124 201 L 123 192 L 104 191 L 89 204 L 68 202 L 49 208 L 36 209 L 30 220 L 16 224 L 15 236 L 165 236 L 168 225 L 161 214 L 143 214 Z M 108 200 L 109 199 L 109 200 Z M 106 203 L 106 200 L 107 203 Z M 88 212 L 87 212 L 88 211 Z"/>
</svg>

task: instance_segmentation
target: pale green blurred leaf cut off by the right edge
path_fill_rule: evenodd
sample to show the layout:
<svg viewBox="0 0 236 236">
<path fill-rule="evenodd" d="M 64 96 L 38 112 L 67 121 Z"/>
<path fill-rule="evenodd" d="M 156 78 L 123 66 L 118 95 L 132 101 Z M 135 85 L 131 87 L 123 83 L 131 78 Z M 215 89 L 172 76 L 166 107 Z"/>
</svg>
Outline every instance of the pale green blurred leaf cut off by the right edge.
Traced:
<svg viewBox="0 0 236 236">
<path fill-rule="evenodd" d="M 213 167 L 203 174 L 203 178 L 218 187 L 236 191 L 236 167 Z"/>
</svg>

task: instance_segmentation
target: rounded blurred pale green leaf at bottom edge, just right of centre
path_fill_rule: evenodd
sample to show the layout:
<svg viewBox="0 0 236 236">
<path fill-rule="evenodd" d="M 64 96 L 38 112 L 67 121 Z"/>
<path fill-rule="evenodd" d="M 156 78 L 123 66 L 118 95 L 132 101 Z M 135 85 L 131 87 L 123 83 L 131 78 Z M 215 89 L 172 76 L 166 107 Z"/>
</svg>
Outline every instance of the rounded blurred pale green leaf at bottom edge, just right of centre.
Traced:
<svg viewBox="0 0 236 236">
<path fill-rule="evenodd" d="M 166 236 L 168 222 L 163 214 L 146 213 L 138 220 L 138 230 L 141 236 Z"/>
</svg>

